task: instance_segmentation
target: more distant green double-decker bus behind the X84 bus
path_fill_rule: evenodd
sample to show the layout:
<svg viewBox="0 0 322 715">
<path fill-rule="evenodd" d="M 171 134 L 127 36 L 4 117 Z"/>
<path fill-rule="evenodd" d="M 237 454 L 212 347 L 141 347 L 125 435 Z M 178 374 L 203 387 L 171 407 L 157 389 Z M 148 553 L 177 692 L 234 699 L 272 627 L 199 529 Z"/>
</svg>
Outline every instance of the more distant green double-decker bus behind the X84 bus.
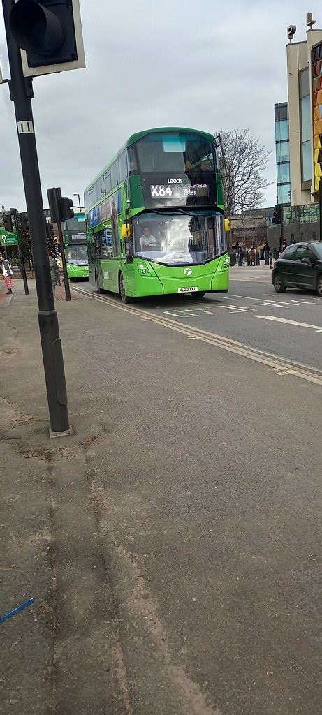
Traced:
<svg viewBox="0 0 322 715">
<path fill-rule="evenodd" d="M 87 240 L 84 214 L 75 214 L 65 221 L 65 255 L 67 275 L 88 280 Z"/>
</svg>

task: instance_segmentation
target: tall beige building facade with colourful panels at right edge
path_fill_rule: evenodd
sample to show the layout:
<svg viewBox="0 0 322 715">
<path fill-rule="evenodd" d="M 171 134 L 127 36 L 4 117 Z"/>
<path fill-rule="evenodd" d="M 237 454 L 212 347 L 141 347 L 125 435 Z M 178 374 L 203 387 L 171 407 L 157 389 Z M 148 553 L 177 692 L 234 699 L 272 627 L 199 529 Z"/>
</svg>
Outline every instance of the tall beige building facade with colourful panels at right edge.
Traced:
<svg viewBox="0 0 322 715">
<path fill-rule="evenodd" d="M 318 201 L 322 167 L 322 30 L 286 46 L 291 204 Z"/>
</svg>

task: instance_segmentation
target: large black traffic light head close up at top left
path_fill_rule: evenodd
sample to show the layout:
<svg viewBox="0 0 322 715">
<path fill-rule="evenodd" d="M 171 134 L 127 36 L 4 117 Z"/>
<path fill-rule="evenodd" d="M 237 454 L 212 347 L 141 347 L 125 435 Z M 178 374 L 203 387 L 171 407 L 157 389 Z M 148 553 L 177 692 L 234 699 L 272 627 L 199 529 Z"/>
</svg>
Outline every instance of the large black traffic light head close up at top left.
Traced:
<svg viewBox="0 0 322 715">
<path fill-rule="evenodd" d="M 9 23 L 25 77 L 85 66 L 79 0 L 18 0 Z"/>
</svg>

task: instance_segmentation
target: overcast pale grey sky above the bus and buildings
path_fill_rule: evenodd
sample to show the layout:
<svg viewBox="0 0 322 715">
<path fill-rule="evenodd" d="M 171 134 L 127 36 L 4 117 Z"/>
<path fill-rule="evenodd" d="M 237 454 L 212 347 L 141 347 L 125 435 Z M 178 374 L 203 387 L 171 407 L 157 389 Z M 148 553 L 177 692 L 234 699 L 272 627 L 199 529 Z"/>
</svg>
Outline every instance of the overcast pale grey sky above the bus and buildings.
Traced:
<svg viewBox="0 0 322 715">
<path fill-rule="evenodd" d="M 314 10 L 321 26 L 317 3 Z M 298 25 L 296 39 L 304 39 L 301 0 L 123 0 L 108 8 L 104 0 L 83 2 L 87 68 L 34 80 L 44 204 L 50 186 L 82 194 L 125 139 L 146 127 L 250 127 L 272 151 L 267 178 L 274 182 L 273 105 L 287 99 L 290 23 Z M 0 55 L 7 76 L 3 24 Z M 8 94 L 0 87 L 0 204 L 24 209 Z M 274 185 L 266 190 L 267 204 L 275 194 Z"/>
</svg>

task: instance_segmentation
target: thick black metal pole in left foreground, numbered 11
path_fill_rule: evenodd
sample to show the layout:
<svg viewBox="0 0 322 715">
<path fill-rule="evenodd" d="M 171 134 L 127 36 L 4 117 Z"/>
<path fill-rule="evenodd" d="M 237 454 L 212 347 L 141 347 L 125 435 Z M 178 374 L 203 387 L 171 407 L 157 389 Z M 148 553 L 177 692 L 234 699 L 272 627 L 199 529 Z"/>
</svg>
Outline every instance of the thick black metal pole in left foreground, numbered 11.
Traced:
<svg viewBox="0 0 322 715">
<path fill-rule="evenodd" d="M 8 46 L 11 80 L 10 98 L 14 102 L 18 129 L 21 169 L 24 178 L 24 192 L 28 212 L 36 291 L 39 305 L 39 331 L 42 341 L 44 373 L 47 386 L 51 433 L 68 433 L 67 390 L 62 355 L 62 341 L 59 337 L 57 312 L 54 309 L 52 281 L 49 270 L 44 207 L 39 176 L 39 164 L 34 135 L 34 120 L 31 109 L 32 81 L 24 78 L 20 49 L 10 31 L 9 18 L 14 8 L 14 0 L 2 0 L 4 26 Z"/>
</svg>

